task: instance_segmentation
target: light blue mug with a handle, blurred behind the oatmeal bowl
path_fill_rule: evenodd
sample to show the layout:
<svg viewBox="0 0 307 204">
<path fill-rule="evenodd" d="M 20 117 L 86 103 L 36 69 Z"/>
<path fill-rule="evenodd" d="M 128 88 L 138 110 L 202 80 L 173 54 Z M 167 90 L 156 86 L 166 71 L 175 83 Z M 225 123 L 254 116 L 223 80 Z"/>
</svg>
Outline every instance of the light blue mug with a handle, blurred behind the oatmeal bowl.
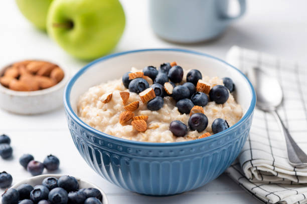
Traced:
<svg viewBox="0 0 307 204">
<path fill-rule="evenodd" d="M 230 16 L 229 0 L 149 0 L 152 29 L 166 40 L 194 43 L 219 36 L 229 23 L 241 17 L 245 0 L 238 0 L 240 12 Z"/>
</svg>

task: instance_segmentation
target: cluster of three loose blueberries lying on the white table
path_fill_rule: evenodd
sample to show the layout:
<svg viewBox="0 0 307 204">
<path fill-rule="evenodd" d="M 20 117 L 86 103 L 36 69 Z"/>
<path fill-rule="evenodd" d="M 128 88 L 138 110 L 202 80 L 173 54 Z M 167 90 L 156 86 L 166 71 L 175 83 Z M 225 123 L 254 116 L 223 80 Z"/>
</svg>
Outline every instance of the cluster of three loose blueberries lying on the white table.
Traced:
<svg viewBox="0 0 307 204">
<path fill-rule="evenodd" d="M 50 154 L 46 156 L 44 162 L 34 160 L 34 156 L 26 153 L 23 154 L 19 162 L 25 169 L 27 169 L 32 175 L 41 175 L 46 168 L 49 171 L 57 170 L 60 165 L 60 160 L 58 157 Z"/>
</svg>

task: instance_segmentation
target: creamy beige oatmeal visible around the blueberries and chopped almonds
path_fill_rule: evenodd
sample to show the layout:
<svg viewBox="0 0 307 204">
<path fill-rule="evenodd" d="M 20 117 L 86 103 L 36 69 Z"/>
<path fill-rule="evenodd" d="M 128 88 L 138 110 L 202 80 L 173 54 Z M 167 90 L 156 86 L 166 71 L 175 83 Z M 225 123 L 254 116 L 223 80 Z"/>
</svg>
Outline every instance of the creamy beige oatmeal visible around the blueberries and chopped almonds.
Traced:
<svg viewBox="0 0 307 204">
<path fill-rule="evenodd" d="M 135 71 L 132 69 L 132 71 Z M 189 70 L 185 70 L 187 73 Z M 181 83 L 184 83 L 184 75 Z M 203 80 L 212 85 L 222 84 L 223 80 L 218 77 L 209 78 L 203 76 Z M 149 84 L 151 85 L 151 84 Z M 129 91 L 122 84 L 121 79 L 111 80 L 100 85 L 89 88 L 78 101 L 78 116 L 88 125 L 110 135 L 124 139 L 149 142 L 174 142 L 187 141 L 198 138 L 205 132 L 212 133 L 211 124 L 216 118 L 226 119 L 230 126 L 239 121 L 242 117 L 242 108 L 236 103 L 232 94 L 229 94 L 228 100 L 224 104 L 216 104 L 214 101 L 208 102 L 204 106 L 204 113 L 208 117 L 209 123 L 207 128 L 202 132 L 188 131 L 184 137 L 176 137 L 170 131 L 170 123 L 173 120 L 180 120 L 188 124 L 189 114 L 181 114 L 175 106 L 176 101 L 170 97 L 164 97 L 164 105 L 158 111 L 148 110 L 146 104 L 142 103 L 137 93 L 130 92 L 127 102 L 139 100 L 139 107 L 133 111 L 134 115 L 148 115 L 147 129 L 144 132 L 136 131 L 132 125 L 121 125 L 119 115 L 125 111 L 119 92 Z M 108 103 L 103 103 L 100 96 L 105 93 L 113 92 L 112 98 Z"/>
</svg>

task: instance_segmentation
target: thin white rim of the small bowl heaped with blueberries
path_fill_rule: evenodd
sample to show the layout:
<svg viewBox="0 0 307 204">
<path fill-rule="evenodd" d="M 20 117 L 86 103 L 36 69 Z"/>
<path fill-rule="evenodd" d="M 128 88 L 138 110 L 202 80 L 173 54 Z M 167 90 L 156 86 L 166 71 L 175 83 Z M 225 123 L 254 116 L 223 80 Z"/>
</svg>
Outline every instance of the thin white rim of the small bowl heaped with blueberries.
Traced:
<svg viewBox="0 0 307 204">
<path fill-rule="evenodd" d="M 27 179 L 24 179 L 24 180 L 21 180 L 17 183 L 15 183 L 14 185 L 12 185 L 10 188 L 17 188 L 18 186 L 20 186 L 21 184 L 24 184 L 24 183 L 28 183 L 29 180 L 34 180 L 34 179 L 40 179 L 40 178 L 47 178 L 47 177 L 56 177 L 56 178 L 59 178 L 63 175 L 67 175 L 67 174 L 42 174 L 42 175 L 37 175 L 37 176 L 33 176 L 33 177 L 30 177 L 30 178 L 27 178 Z M 103 204 L 108 204 L 109 203 L 109 200 L 107 198 L 107 195 L 106 193 L 100 188 L 98 187 L 97 185 L 91 183 L 91 182 L 88 182 L 86 180 L 83 180 L 79 177 L 76 177 L 74 176 L 79 182 L 82 181 L 82 182 L 85 182 L 89 185 L 92 185 L 92 187 L 94 188 L 97 188 L 98 190 L 100 190 L 101 194 L 102 194 L 102 198 L 103 198 Z M 34 187 L 34 186 L 33 186 Z M 1 201 L 0 201 L 1 203 Z"/>
</svg>

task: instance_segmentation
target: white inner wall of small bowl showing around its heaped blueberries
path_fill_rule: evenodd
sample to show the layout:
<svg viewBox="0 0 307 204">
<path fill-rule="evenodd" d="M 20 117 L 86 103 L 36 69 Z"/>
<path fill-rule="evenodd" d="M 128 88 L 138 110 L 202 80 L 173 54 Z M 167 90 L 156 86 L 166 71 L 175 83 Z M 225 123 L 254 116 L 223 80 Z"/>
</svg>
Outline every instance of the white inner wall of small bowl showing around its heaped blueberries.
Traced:
<svg viewBox="0 0 307 204">
<path fill-rule="evenodd" d="M 20 186 L 21 184 L 24 184 L 24 183 L 27 183 L 27 184 L 30 184 L 32 185 L 33 187 L 35 185 L 41 185 L 43 180 L 46 178 L 46 177 L 56 177 L 56 178 L 60 178 L 62 175 L 61 174 L 44 174 L 44 175 L 38 175 L 38 176 L 34 176 L 34 177 L 31 177 L 31 178 L 28 178 L 26 180 L 22 180 L 18 183 L 16 183 L 15 185 L 12 186 L 12 188 L 17 188 L 18 186 Z M 103 192 L 102 189 L 100 189 L 99 187 L 97 187 L 96 185 L 92 184 L 92 183 L 89 183 L 87 181 L 84 181 L 84 180 L 81 180 L 80 178 L 76 177 L 78 182 L 79 182 L 79 187 L 80 188 L 88 188 L 88 187 L 94 187 L 94 188 L 97 188 L 98 190 L 100 190 L 100 192 L 102 193 L 102 203 L 103 204 L 108 204 L 109 201 L 106 197 L 106 194 Z M 0 200 L 0 204 L 2 204 L 1 200 Z"/>
</svg>

